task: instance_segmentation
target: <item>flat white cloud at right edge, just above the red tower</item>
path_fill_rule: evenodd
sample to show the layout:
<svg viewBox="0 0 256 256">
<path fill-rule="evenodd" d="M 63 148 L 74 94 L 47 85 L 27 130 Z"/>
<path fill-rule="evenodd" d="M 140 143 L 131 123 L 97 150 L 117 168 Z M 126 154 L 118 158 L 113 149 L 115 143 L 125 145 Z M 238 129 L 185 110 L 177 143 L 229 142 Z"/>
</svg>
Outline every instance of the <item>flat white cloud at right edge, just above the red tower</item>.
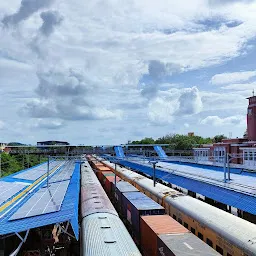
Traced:
<svg viewBox="0 0 256 256">
<path fill-rule="evenodd" d="M 245 82 L 253 78 L 254 76 L 256 76 L 256 71 L 222 73 L 214 75 L 210 82 L 215 85 L 223 85 L 237 82 Z"/>
</svg>

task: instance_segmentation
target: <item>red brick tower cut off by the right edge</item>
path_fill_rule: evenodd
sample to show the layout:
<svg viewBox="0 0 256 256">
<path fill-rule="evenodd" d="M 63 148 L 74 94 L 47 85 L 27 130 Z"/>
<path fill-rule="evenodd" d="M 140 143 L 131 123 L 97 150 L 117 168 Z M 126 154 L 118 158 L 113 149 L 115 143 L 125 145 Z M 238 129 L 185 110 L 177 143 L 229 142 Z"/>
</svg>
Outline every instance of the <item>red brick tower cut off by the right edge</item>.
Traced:
<svg viewBox="0 0 256 256">
<path fill-rule="evenodd" d="M 247 110 L 247 133 L 248 140 L 256 141 L 256 96 L 247 98 L 249 100 Z"/>
</svg>

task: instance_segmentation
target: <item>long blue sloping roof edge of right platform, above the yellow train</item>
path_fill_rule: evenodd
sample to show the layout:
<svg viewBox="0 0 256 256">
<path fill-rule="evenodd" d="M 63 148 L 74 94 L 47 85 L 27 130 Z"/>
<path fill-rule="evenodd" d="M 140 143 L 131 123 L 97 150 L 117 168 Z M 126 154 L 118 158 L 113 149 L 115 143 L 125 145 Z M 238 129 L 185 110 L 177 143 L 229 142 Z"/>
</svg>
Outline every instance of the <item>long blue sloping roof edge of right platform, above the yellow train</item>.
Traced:
<svg viewBox="0 0 256 256">
<path fill-rule="evenodd" d="M 119 163 L 152 176 L 153 170 L 151 167 L 125 160 L 120 160 Z M 203 181 L 178 176 L 169 172 L 167 173 L 164 170 L 159 169 L 156 169 L 156 177 L 209 197 L 218 202 L 236 207 L 251 214 L 256 214 L 256 197 L 254 196 L 226 189 L 224 187 L 219 187 L 213 184 L 208 184 Z"/>
</svg>

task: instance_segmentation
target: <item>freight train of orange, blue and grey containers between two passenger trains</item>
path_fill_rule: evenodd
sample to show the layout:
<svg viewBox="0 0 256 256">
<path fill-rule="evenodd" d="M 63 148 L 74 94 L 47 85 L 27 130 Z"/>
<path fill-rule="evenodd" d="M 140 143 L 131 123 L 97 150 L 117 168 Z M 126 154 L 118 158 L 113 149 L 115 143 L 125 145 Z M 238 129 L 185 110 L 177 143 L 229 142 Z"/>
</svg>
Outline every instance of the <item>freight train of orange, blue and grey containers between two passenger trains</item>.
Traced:
<svg viewBox="0 0 256 256">
<path fill-rule="evenodd" d="M 164 207 L 130 183 L 120 180 L 109 168 L 107 170 L 101 164 L 94 164 L 93 167 L 143 256 L 219 255 L 166 215 Z"/>
</svg>

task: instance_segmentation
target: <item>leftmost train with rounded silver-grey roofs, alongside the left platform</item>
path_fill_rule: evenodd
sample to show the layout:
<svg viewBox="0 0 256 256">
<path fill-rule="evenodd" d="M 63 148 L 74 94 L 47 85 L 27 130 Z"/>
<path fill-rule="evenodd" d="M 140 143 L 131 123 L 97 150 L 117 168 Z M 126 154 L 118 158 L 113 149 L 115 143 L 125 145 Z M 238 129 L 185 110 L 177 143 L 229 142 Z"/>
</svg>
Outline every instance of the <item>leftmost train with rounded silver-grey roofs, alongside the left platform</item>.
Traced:
<svg viewBox="0 0 256 256">
<path fill-rule="evenodd" d="M 88 162 L 81 165 L 81 251 L 85 256 L 141 256 Z"/>
</svg>

